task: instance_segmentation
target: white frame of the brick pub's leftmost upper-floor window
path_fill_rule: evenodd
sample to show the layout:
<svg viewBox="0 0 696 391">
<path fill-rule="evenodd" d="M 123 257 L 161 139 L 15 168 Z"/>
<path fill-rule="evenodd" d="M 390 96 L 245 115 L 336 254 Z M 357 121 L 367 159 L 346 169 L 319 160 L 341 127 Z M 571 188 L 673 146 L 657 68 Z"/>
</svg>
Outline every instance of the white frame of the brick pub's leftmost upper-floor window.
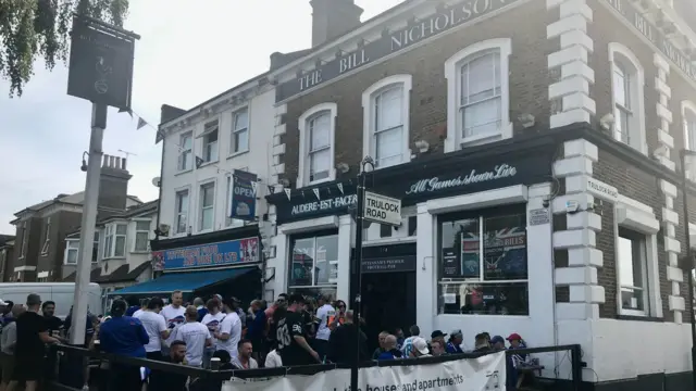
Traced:
<svg viewBox="0 0 696 391">
<path fill-rule="evenodd" d="M 314 116 L 315 114 L 319 114 L 323 111 L 327 111 L 330 114 L 330 128 L 328 128 L 328 138 L 330 138 L 330 155 L 331 155 L 331 162 L 332 165 L 331 167 L 328 167 L 328 177 L 324 178 L 324 179 L 319 179 L 319 180 L 309 180 L 309 171 L 310 171 L 310 164 L 309 164 L 309 126 L 308 126 L 308 122 L 309 119 L 312 118 L 312 116 Z M 321 182 L 325 182 L 325 181 L 332 181 L 336 179 L 336 154 L 335 154 L 335 148 L 336 148 L 336 143 L 335 143 L 335 136 L 336 136 L 336 116 L 338 115 L 338 105 L 336 103 L 333 102 L 325 102 L 325 103 L 320 103 L 313 108 L 311 108 L 310 110 L 306 111 L 304 113 L 302 113 L 302 115 L 300 115 L 299 119 L 298 119 L 298 128 L 300 130 L 300 153 L 299 153 L 299 169 L 298 169 L 298 176 L 297 176 L 297 184 L 296 187 L 299 189 L 303 186 L 309 186 L 309 185 L 315 185 L 315 184 L 321 184 Z"/>
</svg>

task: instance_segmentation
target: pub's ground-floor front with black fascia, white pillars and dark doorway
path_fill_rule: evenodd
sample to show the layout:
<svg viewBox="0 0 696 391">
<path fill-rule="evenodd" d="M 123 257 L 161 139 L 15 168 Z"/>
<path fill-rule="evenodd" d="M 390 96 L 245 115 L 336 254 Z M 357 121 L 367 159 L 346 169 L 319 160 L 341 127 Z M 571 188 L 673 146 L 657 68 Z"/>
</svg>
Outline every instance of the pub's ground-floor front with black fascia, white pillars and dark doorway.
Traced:
<svg viewBox="0 0 696 391">
<path fill-rule="evenodd" d="M 373 172 L 366 189 L 401 200 L 402 223 L 365 229 L 360 266 L 352 263 L 357 179 L 272 194 L 276 269 L 285 268 L 276 275 L 288 276 L 279 288 L 346 300 L 360 276 L 373 333 L 417 324 L 423 335 L 461 329 L 467 346 L 484 330 L 552 345 L 557 150 L 552 139 L 507 140 Z"/>
</svg>

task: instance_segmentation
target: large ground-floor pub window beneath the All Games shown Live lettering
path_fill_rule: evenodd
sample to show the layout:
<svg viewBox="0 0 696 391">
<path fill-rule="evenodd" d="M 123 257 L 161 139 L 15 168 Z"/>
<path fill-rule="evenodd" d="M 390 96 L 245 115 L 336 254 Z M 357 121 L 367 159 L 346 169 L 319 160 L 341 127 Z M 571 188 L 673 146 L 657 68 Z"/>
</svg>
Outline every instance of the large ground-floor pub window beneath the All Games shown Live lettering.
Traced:
<svg viewBox="0 0 696 391">
<path fill-rule="evenodd" d="M 529 315 L 523 206 L 438 218 L 440 314 Z"/>
</svg>

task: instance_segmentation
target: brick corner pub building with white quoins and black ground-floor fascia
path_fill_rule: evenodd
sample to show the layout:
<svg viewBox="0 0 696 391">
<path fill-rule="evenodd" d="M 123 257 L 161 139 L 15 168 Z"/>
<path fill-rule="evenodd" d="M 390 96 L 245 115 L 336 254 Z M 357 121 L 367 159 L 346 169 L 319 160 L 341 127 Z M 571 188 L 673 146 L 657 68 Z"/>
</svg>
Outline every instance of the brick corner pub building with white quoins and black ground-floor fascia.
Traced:
<svg viewBox="0 0 696 391">
<path fill-rule="evenodd" d="M 580 343 L 588 389 L 691 387 L 678 189 L 696 146 L 693 5 L 415 0 L 361 22 L 352 1 L 311 4 L 312 48 L 274 53 L 269 73 L 275 291 L 353 306 L 361 274 L 370 338 L 418 324 L 472 349 L 518 332 Z M 357 265 L 364 156 L 401 225 L 371 224 Z M 569 377 L 563 354 L 538 357 Z"/>
</svg>

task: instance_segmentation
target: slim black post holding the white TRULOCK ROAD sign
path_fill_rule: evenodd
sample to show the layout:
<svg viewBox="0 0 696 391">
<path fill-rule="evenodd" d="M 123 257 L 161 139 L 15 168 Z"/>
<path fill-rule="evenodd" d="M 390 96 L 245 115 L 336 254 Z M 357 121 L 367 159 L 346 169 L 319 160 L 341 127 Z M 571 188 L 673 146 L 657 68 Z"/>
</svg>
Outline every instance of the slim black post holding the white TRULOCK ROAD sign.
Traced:
<svg viewBox="0 0 696 391">
<path fill-rule="evenodd" d="M 364 222 L 364 199 L 365 199 L 365 178 L 368 176 L 368 167 L 370 171 L 374 169 L 374 161 L 370 156 L 365 156 L 361 164 L 360 173 L 358 174 L 358 207 L 356 211 L 356 253 L 352 260 L 352 273 L 350 276 L 351 291 L 356 295 L 353 306 L 353 321 L 356 329 L 356 356 L 350 365 L 350 390 L 358 390 L 358 364 L 360 363 L 360 307 L 361 298 L 360 291 L 362 290 L 362 230 Z"/>
</svg>

